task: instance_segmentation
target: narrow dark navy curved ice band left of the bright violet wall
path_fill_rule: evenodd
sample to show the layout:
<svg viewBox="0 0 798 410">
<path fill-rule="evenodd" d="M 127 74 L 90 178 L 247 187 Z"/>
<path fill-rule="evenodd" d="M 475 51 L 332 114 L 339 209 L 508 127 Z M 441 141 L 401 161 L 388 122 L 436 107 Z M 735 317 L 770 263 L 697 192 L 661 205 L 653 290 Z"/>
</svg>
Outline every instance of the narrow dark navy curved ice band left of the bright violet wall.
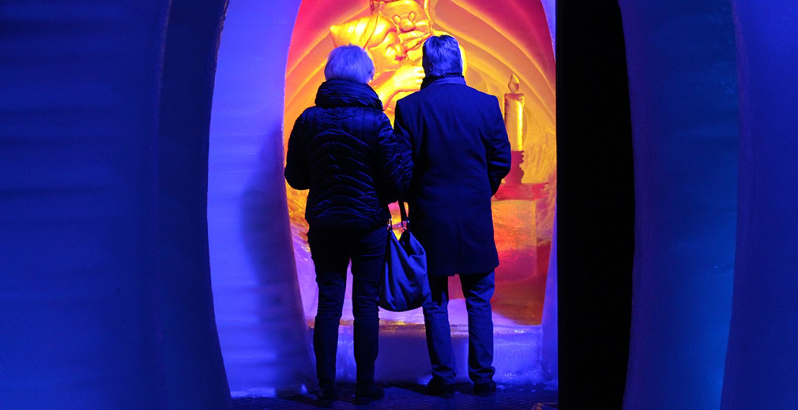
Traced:
<svg viewBox="0 0 798 410">
<path fill-rule="evenodd" d="M 230 408 L 211 296 L 207 159 L 227 0 L 172 0 L 160 94 L 160 324 L 168 408 Z"/>
</svg>

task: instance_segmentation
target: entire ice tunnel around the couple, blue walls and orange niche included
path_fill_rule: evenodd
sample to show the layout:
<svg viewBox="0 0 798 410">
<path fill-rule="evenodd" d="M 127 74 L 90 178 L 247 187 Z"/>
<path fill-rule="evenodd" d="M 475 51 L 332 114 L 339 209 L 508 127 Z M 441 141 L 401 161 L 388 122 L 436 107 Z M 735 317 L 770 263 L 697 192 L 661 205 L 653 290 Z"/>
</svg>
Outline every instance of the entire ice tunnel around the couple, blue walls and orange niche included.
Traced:
<svg viewBox="0 0 798 410">
<path fill-rule="evenodd" d="M 344 42 L 390 115 L 435 33 L 460 38 L 515 152 L 496 380 L 559 377 L 559 408 L 795 408 L 792 3 L 561 2 L 555 50 L 554 0 L 2 2 L 0 408 L 314 388 L 287 128 Z M 378 381 L 423 382 L 421 317 L 382 319 Z"/>
</svg>

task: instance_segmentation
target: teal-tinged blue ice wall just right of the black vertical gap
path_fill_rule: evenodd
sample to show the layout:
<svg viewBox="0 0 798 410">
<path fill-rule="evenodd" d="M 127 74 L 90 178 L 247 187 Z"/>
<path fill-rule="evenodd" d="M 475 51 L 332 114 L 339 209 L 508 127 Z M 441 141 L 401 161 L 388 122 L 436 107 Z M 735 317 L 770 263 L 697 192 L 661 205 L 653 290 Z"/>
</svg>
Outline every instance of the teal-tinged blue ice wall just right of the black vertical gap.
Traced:
<svg viewBox="0 0 798 410">
<path fill-rule="evenodd" d="M 622 0 L 635 255 L 624 408 L 718 408 L 737 223 L 727 0 Z"/>
</svg>

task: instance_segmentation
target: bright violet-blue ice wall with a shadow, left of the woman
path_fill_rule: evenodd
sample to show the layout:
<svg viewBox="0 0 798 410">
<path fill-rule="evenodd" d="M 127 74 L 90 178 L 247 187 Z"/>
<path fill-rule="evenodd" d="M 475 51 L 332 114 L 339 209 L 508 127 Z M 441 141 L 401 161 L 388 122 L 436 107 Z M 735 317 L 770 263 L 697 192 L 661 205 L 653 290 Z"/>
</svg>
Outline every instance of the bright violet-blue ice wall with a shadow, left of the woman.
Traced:
<svg viewBox="0 0 798 410">
<path fill-rule="evenodd" d="M 230 2 L 219 44 L 207 219 L 234 394 L 315 383 L 282 177 L 286 61 L 298 9 L 299 0 Z"/>
</svg>

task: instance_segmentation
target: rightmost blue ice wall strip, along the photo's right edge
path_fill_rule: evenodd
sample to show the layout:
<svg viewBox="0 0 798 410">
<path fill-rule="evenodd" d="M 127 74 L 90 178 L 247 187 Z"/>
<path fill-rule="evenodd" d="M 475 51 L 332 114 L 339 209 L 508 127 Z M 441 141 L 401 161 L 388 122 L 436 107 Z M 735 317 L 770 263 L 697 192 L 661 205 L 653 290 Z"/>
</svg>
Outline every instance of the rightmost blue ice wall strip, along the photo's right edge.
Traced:
<svg viewBox="0 0 798 410">
<path fill-rule="evenodd" d="M 735 0 L 740 199 L 721 408 L 798 403 L 798 6 Z"/>
</svg>

